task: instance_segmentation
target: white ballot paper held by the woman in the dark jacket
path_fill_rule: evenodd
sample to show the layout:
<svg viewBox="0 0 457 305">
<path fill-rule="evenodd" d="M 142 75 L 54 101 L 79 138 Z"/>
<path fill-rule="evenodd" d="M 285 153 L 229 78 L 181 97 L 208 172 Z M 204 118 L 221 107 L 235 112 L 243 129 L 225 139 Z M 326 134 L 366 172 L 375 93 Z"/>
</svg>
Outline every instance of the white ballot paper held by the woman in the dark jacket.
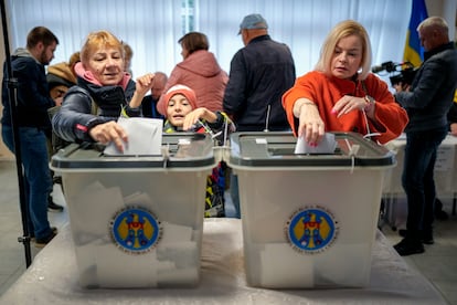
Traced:
<svg viewBox="0 0 457 305">
<path fill-rule="evenodd" d="M 117 123 L 126 129 L 128 141 L 124 144 L 124 152 L 110 143 L 105 155 L 161 155 L 163 120 L 148 117 L 119 117 Z"/>
</svg>

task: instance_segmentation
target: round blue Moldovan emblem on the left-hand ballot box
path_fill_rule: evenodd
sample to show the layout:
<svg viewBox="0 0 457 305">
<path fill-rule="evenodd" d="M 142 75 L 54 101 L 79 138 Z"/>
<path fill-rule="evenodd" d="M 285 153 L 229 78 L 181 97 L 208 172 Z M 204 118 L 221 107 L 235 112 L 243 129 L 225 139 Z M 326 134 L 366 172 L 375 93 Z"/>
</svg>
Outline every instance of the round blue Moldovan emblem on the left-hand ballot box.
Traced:
<svg viewBox="0 0 457 305">
<path fill-rule="evenodd" d="M 142 208 L 121 210 L 113 219 L 110 231 L 116 245 L 134 254 L 150 251 L 161 235 L 160 222 Z"/>
</svg>

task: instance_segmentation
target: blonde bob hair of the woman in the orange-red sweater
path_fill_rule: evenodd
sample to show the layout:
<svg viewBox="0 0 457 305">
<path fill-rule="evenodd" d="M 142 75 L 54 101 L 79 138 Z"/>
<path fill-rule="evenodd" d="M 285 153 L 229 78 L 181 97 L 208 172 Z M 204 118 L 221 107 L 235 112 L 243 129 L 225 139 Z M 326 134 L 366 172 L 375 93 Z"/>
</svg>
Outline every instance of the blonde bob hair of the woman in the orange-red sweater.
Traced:
<svg viewBox="0 0 457 305">
<path fill-rule="evenodd" d="M 316 70 L 330 75 L 331 60 L 338 42 L 347 36 L 357 35 L 362 41 L 362 61 L 359 80 L 365 80 L 371 70 L 371 43 L 366 30 L 357 21 L 346 20 L 338 23 L 328 34 L 320 51 L 320 57 L 316 64 Z"/>
</svg>

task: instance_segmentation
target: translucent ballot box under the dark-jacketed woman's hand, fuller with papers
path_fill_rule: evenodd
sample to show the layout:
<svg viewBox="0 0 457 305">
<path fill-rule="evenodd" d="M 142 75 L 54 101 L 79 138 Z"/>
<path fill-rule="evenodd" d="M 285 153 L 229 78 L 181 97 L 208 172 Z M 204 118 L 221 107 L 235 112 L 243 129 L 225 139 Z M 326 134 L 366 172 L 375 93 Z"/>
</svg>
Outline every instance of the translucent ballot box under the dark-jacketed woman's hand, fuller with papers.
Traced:
<svg viewBox="0 0 457 305">
<path fill-rule="evenodd" d="M 179 133 L 162 136 L 158 156 L 107 156 L 73 144 L 52 157 L 82 286 L 199 284 L 212 148 L 206 135 Z"/>
</svg>

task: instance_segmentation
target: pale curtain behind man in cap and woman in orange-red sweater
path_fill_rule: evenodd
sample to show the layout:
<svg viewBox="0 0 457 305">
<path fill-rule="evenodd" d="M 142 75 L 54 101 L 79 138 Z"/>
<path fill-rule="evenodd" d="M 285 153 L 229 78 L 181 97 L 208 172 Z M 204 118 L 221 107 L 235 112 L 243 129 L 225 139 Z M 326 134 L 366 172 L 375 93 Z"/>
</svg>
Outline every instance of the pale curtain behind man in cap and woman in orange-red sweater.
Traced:
<svg viewBox="0 0 457 305">
<path fill-rule="evenodd" d="M 411 1 L 397 0 L 231 0 L 198 1 L 196 29 L 209 35 L 211 49 L 224 67 L 243 48 L 237 31 L 243 17 L 261 13 L 272 39 L 290 46 L 297 75 L 313 69 L 331 28 L 346 19 L 361 22 L 370 34 L 373 65 L 401 62 Z"/>
</svg>

